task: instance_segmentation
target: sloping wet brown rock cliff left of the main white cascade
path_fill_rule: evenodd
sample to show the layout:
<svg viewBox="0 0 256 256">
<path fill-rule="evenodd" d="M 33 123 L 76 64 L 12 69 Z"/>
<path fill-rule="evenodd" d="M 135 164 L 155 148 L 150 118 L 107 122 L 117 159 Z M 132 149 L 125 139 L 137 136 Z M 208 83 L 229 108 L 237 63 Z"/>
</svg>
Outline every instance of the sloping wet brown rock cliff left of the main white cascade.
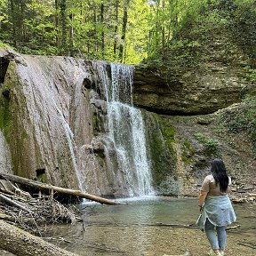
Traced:
<svg viewBox="0 0 256 256">
<path fill-rule="evenodd" d="M 1 58 L 1 171 L 97 195 L 125 195 L 102 153 L 106 109 L 92 62 L 8 49 Z"/>
</svg>

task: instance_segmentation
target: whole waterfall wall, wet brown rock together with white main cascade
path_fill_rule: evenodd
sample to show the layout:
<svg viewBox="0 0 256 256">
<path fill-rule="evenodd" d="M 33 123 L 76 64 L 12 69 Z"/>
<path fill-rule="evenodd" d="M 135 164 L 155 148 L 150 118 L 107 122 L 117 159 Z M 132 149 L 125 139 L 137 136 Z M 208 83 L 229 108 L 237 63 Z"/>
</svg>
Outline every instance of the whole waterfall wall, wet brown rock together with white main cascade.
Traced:
<svg viewBox="0 0 256 256">
<path fill-rule="evenodd" d="M 10 111 L 22 122 L 11 132 L 24 152 L 3 148 L 0 138 L 0 169 L 20 159 L 15 172 L 36 178 L 35 171 L 44 169 L 57 186 L 78 184 L 109 197 L 153 194 L 144 124 L 132 107 L 132 66 L 62 57 L 22 61 L 26 65 L 13 63 L 10 69 L 19 83 L 8 76 L 5 84 L 15 84 L 18 101 Z"/>
</svg>

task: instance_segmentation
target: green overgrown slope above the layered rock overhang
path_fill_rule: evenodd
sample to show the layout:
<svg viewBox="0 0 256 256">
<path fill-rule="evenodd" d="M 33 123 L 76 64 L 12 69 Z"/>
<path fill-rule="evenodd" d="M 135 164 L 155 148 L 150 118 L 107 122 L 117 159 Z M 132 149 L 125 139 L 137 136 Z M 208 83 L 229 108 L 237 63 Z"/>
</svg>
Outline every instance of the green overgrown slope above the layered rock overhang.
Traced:
<svg viewBox="0 0 256 256">
<path fill-rule="evenodd" d="M 211 55 L 212 41 L 219 39 L 223 51 L 229 51 L 228 43 L 237 45 L 237 49 L 244 51 L 249 57 L 251 67 L 255 68 L 256 5 L 254 1 L 183 1 L 185 2 L 184 7 L 186 7 L 179 12 L 178 22 L 175 28 L 172 28 L 172 36 L 164 44 L 158 44 L 156 51 L 151 52 L 149 65 L 152 63 L 154 66 L 156 63 L 171 69 L 177 65 L 201 68 L 201 63 L 208 60 Z M 229 53 L 228 61 L 233 60 L 236 63 L 232 58 L 236 53 L 232 51 Z"/>
</svg>

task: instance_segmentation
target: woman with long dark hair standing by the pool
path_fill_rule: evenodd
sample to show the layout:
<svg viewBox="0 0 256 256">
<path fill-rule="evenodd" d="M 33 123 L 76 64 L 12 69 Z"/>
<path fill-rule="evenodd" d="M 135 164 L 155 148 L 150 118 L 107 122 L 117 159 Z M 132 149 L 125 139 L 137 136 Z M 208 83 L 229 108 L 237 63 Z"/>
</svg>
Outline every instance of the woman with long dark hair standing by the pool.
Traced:
<svg viewBox="0 0 256 256">
<path fill-rule="evenodd" d="M 228 198 L 228 177 L 225 164 L 220 158 L 212 161 L 212 174 L 205 177 L 200 195 L 200 216 L 197 225 L 206 233 L 212 245 L 208 255 L 224 255 L 226 246 L 225 226 L 236 221 L 236 214 Z M 214 229 L 216 228 L 216 230 Z"/>
</svg>

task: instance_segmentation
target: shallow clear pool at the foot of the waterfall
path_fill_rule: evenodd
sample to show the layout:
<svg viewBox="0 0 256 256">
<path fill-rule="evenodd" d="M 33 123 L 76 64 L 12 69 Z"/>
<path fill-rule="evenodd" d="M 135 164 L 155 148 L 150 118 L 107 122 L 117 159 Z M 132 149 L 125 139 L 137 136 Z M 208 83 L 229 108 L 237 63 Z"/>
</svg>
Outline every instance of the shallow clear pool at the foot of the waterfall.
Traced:
<svg viewBox="0 0 256 256">
<path fill-rule="evenodd" d="M 145 197 L 124 203 L 127 204 L 80 205 L 84 209 L 83 222 L 48 227 L 50 242 L 89 256 L 176 255 L 184 253 L 186 248 L 192 248 L 193 255 L 206 255 L 202 250 L 207 251 L 209 244 L 195 225 L 197 199 Z M 240 204 L 234 208 L 237 215 L 234 225 L 241 227 L 229 232 L 228 246 L 232 252 L 229 255 L 255 256 L 256 205 Z M 240 248 L 240 252 L 234 247 Z"/>
</svg>

